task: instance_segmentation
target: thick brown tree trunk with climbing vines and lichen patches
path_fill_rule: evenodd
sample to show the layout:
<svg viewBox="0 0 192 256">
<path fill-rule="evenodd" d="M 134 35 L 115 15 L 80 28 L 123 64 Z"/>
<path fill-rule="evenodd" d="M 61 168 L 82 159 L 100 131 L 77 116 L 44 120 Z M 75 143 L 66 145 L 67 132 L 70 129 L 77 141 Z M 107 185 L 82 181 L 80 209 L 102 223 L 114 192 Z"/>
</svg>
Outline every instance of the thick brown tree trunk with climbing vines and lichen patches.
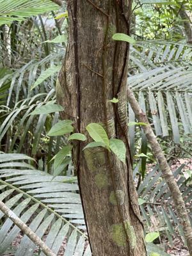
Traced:
<svg viewBox="0 0 192 256">
<path fill-rule="evenodd" d="M 127 139 L 127 56 L 129 45 L 112 40 L 129 34 L 131 1 L 68 1 L 68 46 L 57 84 L 63 119 L 86 134 L 100 123 L 109 138 L 123 140 L 126 164 L 104 148 L 74 145 L 73 159 L 93 256 L 145 256 L 143 225 Z M 108 100 L 118 98 L 113 104 Z M 86 134 L 88 135 L 88 134 Z"/>
</svg>

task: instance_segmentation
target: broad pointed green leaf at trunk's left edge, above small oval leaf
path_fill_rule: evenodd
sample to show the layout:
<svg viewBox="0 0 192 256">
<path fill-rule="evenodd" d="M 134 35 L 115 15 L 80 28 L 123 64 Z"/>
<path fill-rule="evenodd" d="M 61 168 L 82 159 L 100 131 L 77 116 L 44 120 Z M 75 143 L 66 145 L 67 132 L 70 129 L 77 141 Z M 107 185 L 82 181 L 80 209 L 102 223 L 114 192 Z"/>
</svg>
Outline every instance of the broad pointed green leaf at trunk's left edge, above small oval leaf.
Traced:
<svg viewBox="0 0 192 256">
<path fill-rule="evenodd" d="M 74 131 L 74 127 L 72 127 L 72 120 L 63 120 L 59 121 L 53 127 L 51 130 L 47 133 L 47 136 L 58 136 L 67 134 Z"/>
</svg>

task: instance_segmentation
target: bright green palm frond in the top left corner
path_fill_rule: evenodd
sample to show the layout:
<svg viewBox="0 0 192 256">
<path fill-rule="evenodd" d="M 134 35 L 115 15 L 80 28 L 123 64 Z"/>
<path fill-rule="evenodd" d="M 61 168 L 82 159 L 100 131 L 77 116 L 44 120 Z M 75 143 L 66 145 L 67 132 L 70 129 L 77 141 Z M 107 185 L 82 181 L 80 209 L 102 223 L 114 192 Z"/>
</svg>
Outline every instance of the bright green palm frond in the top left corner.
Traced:
<svg viewBox="0 0 192 256">
<path fill-rule="evenodd" d="M 26 17 L 58 10 L 58 5 L 51 0 L 0 0 L 0 26 L 10 24 L 13 20 L 21 21 Z"/>
</svg>

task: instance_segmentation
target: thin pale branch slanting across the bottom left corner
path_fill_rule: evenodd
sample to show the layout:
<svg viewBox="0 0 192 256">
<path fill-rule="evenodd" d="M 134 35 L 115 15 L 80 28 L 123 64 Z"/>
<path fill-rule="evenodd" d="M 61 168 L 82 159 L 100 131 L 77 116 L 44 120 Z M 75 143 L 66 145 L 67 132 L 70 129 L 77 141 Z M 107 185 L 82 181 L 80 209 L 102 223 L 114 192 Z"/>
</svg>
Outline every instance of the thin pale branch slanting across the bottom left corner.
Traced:
<svg viewBox="0 0 192 256">
<path fill-rule="evenodd" d="M 6 207 L 6 205 L 1 201 L 0 201 L 0 210 L 6 216 L 8 216 L 8 218 L 10 218 L 10 220 L 12 220 L 13 223 L 17 225 L 17 227 L 19 227 L 20 230 L 22 230 L 22 232 L 24 232 L 24 234 L 28 236 L 29 239 L 31 239 L 31 241 L 33 241 L 33 243 L 39 246 L 42 252 L 45 253 L 45 255 L 56 256 L 56 254 L 52 252 L 52 250 L 42 241 L 42 239 L 36 236 L 36 234 L 22 220 L 20 220 L 20 218 L 17 217 L 17 215 L 13 211 L 11 211 L 8 207 Z"/>
</svg>

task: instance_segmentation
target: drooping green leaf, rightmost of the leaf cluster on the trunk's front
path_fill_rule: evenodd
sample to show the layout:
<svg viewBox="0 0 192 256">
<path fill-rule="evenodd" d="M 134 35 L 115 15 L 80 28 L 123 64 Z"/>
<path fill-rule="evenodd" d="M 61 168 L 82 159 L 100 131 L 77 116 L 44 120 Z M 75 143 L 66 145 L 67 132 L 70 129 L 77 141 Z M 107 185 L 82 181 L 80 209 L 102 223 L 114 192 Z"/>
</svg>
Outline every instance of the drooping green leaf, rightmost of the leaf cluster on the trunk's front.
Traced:
<svg viewBox="0 0 192 256">
<path fill-rule="evenodd" d="M 109 147 L 113 151 L 114 154 L 120 159 L 123 163 L 125 163 L 125 155 L 126 155 L 126 147 L 124 141 L 118 139 L 109 140 Z"/>
</svg>

